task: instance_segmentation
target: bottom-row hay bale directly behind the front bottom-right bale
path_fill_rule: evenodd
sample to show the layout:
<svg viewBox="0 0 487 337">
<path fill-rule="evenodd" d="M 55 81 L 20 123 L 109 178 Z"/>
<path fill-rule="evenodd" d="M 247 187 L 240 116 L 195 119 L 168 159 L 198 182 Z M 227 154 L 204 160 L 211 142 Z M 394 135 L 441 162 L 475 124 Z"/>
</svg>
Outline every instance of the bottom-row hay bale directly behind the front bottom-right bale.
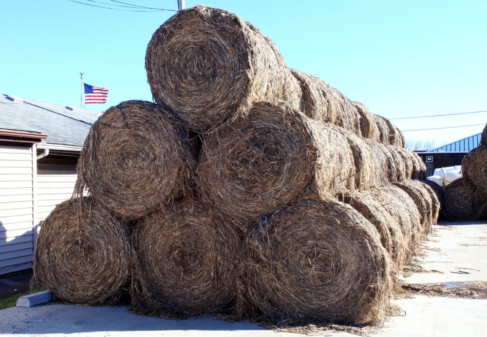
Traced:
<svg viewBox="0 0 487 337">
<path fill-rule="evenodd" d="M 383 206 L 383 195 L 379 190 L 355 191 L 341 195 L 339 200 L 352 206 L 358 213 L 370 221 L 380 235 L 382 246 L 394 262 L 394 270 L 401 266 L 405 258 L 405 242 L 399 224 Z"/>
</svg>

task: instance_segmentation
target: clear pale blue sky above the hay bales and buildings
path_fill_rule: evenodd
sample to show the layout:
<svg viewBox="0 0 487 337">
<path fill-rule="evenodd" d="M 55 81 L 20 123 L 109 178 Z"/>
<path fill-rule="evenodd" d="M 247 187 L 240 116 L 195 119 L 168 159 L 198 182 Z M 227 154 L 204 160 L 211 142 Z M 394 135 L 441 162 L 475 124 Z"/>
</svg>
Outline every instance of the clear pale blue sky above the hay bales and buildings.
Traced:
<svg viewBox="0 0 487 337">
<path fill-rule="evenodd" d="M 175 0 L 124 2 L 176 8 Z M 252 22 L 277 44 L 288 66 L 320 77 L 376 114 L 392 119 L 487 110 L 485 0 L 196 3 Z M 145 50 L 174 12 L 116 11 L 68 0 L 4 0 L 1 11 L 0 93 L 79 106 L 84 72 L 86 83 L 110 90 L 108 103 L 87 108 L 152 99 Z M 458 126 L 486 123 L 487 112 L 392 121 L 402 130 Z M 441 145 L 482 129 L 405 136 Z"/>
</svg>

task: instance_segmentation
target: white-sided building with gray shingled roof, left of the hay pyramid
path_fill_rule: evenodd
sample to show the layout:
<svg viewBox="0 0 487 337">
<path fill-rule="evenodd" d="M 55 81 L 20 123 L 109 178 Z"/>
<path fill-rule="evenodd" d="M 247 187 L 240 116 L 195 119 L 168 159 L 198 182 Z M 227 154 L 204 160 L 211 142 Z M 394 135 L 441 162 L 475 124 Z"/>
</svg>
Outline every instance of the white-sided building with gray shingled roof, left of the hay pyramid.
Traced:
<svg viewBox="0 0 487 337">
<path fill-rule="evenodd" d="M 0 275 L 32 267 L 39 222 L 71 198 L 100 112 L 0 95 Z"/>
</svg>

